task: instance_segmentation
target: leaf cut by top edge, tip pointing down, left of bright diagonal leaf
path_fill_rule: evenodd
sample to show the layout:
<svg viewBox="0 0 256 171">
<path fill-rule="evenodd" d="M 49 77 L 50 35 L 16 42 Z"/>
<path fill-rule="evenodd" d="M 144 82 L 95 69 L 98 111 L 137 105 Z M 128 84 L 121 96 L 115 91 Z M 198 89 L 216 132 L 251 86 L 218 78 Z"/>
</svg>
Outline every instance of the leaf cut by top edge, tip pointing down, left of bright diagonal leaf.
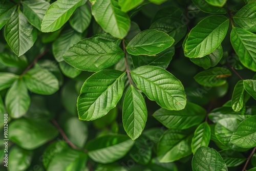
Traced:
<svg viewBox="0 0 256 171">
<path fill-rule="evenodd" d="M 23 14 L 27 17 L 29 23 L 41 31 L 42 18 L 44 18 L 49 3 L 43 0 L 24 1 Z"/>
</svg>

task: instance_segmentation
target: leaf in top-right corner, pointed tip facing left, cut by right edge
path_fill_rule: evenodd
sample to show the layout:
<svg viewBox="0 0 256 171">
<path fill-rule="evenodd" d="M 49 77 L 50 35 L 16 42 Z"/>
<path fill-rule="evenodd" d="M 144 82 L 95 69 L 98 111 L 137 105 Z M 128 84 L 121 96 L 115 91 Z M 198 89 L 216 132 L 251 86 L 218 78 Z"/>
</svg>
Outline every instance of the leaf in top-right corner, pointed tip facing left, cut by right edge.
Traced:
<svg viewBox="0 0 256 171">
<path fill-rule="evenodd" d="M 236 22 L 243 29 L 256 32 L 256 2 L 247 4 L 233 16 Z"/>
</svg>

